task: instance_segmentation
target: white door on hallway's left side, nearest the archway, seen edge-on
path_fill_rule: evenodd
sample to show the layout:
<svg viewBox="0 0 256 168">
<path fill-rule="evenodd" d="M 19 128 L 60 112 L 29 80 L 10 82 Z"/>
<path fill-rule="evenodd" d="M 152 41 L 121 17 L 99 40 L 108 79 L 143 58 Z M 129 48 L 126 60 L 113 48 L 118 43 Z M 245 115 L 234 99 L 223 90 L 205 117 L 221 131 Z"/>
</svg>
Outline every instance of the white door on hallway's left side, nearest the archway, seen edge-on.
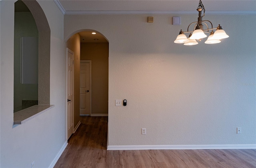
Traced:
<svg viewBox="0 0 256 168">
<path fill-rule="evenodd" d="M 67 126 L 68 138 L 74 130 L 74 52 L 67 48 Z"/>
</svg>

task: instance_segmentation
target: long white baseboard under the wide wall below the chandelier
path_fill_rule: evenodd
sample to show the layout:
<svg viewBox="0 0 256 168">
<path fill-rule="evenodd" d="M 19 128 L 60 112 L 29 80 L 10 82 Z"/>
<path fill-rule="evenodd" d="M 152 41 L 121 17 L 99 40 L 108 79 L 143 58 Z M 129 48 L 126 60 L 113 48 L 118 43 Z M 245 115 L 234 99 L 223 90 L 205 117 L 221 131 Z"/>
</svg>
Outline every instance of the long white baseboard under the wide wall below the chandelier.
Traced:
<svg viewBox="0 0 256 168">
<path fill-rule="evenodd" d="M 108 145 L 107 150 L 256 149 L 256 144 L 227 145 Z"/>
</svg>

